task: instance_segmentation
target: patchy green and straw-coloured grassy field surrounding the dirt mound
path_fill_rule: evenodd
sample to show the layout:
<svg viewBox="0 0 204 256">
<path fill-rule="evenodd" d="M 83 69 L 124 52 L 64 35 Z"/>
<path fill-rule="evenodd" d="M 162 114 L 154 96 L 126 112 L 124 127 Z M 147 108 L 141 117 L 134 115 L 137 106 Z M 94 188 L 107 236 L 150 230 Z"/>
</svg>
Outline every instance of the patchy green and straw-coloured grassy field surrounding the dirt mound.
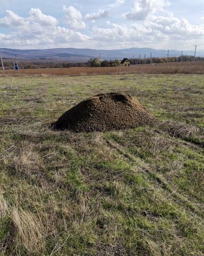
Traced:
<svg viewBox="0 0 204 256">
<path fill-rule="evenodd" d="M 49 129 L 104 92 L 158 122 Z M 203 95 L 203 75 L 1 77 L 0 255 L 204 255 Z"/>
</svg>

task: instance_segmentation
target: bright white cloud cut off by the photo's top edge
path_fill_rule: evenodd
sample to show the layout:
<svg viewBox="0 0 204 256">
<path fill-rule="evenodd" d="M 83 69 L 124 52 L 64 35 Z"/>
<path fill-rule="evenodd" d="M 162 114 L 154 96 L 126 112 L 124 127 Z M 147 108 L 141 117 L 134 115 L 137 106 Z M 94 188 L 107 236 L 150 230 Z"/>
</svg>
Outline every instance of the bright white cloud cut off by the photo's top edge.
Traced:
<svg viewBox="0 0 204 256">
<path fill-rule="evenodd" d="M 124 13 L 123 17 L 128 20 L 145 20 L 168 4 L 166 0 L 134 0 L 133 8 Z"/>
</svg>

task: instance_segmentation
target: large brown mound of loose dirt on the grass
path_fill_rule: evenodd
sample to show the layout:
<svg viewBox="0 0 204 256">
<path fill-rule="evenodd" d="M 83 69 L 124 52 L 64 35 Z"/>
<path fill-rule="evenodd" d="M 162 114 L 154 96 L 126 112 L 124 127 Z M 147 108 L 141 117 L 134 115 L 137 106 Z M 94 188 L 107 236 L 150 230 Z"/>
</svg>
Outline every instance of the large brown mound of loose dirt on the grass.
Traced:
<svg viewBox="0 0 204 256">
<path fill-rule="evenodd" d="M 129 94 L 106 93 L 80 102 L 54 124 L 58 130 L 105 132 L 154 122 L 151 113 Z"/>
</svg>

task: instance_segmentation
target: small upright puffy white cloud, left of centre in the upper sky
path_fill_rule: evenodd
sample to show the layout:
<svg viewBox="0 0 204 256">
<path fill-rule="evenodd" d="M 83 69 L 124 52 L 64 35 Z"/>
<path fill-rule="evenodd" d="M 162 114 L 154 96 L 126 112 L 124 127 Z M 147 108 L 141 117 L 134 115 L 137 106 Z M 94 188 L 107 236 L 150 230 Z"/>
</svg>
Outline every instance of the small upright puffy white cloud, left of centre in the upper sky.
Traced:
<svg viewBox="0 0 204 256">
<path fill-rule="evenodd" d="M 82 15 L 79 10 L 75 9 L 72 5 L 67 8 L 64 6 L 63 10 L 65 12 L 64 21 L 72 29 L 86 28 L 86 24 L 83 22 Z"/>
</svg>

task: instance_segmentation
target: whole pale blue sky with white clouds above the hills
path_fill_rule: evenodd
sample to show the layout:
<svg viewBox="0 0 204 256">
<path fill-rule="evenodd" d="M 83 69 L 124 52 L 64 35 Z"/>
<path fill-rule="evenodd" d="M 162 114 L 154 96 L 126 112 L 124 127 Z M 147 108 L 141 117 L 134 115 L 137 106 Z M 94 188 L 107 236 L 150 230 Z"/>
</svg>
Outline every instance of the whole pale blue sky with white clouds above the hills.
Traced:
<svg viewBox="0 0 204 256">
<path fill-rule="evenodd" d="M 204 49 L 203 0 L 0 0 L 0 47 L 192 51 L 194 45 Z"/>
</svg>

